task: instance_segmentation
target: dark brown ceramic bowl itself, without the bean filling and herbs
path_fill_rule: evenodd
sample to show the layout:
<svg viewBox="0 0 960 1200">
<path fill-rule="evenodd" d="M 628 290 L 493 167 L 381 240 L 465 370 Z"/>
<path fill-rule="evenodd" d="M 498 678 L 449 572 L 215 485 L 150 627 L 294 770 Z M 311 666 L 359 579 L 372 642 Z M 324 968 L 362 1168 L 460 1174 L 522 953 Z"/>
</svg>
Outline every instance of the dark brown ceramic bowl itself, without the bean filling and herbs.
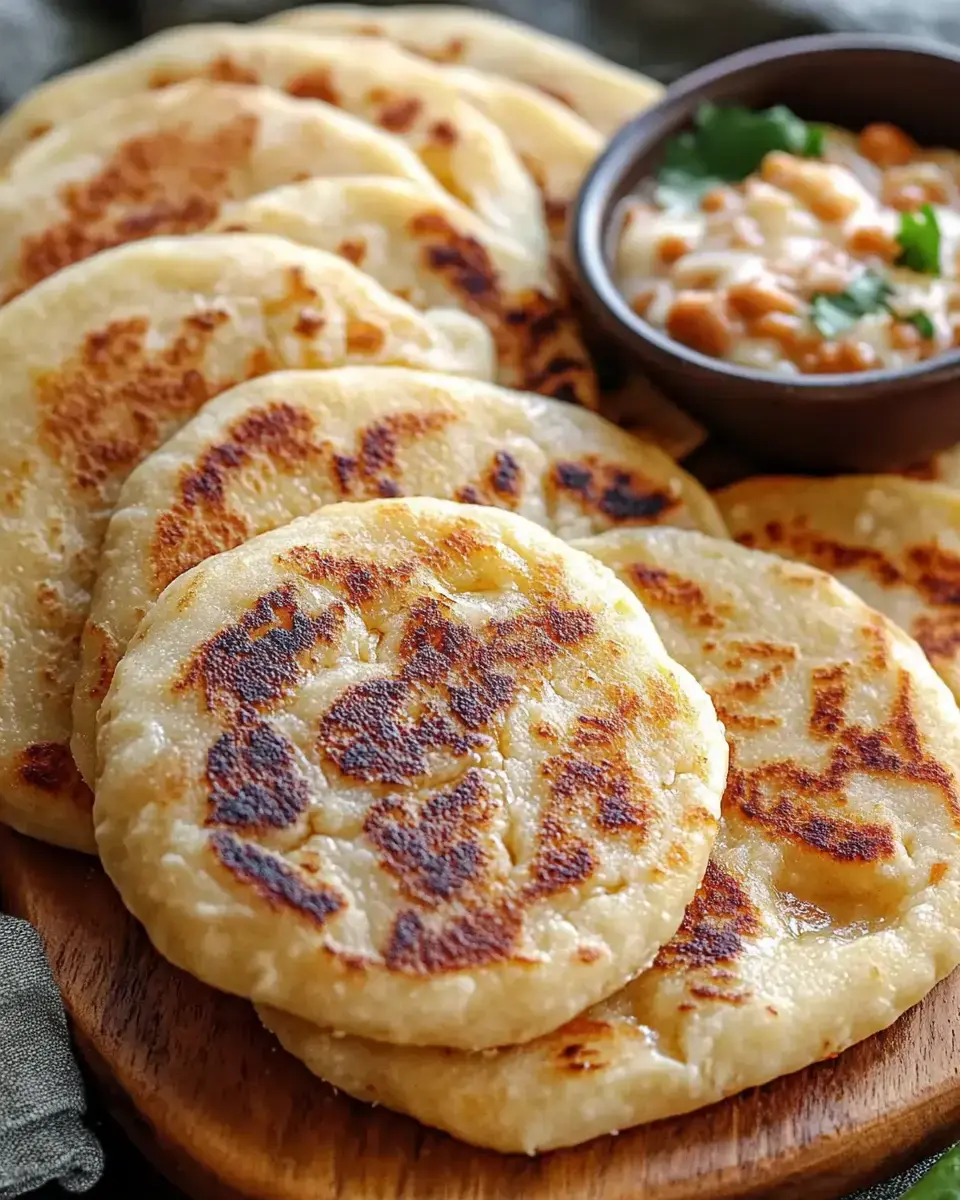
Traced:
<svg viewBox="0 0 960 1200">
<path fill-rule="evenodd" d="M 619 202 L 656 172 L 664 142 L 704 100 L 787 104 L 809 120 L 854 131 L 890 121 L 920 145 L 960 150 L 958 95 L 960 50 L 866 35 L 773 42 L 686 76 L 617 133 L 583 184 L 571 240 L 587 310 L 667 395 L 764 466 L 889 470 L 960 442 L 960 352 L 857 374 L 784 378 L 739 367 L 637 317 L 610 265 Z"/>
</svg>

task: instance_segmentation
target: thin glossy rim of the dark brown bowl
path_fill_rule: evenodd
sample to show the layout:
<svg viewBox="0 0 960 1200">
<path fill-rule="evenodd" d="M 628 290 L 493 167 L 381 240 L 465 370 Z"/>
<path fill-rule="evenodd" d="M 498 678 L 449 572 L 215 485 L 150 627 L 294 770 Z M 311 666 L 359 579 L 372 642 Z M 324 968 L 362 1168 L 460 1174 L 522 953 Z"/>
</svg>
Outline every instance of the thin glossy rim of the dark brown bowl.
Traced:
<svg viewBox="0 0 960 1200">
<path fill-rule="evenodd" d="M 737 50 L 715 62 L 682 76 L 667 88 L 664 96 L 649 108 L 631 118 L 613 134 L 600 156 L 587 173 L 574 204 L 570 222 L 570 254 L 581 288 L 599 306 L 598 316 L 628 348 L 643 341 L 661 355 L 679 360 L 701 371 L 710 371 L 730 382 L 763 384 L 775 391 L 809 391 L 810 400 L 821 398 L 816 394 L 829 389 L 864 391 L 900 382 L 918 385 L 940 383 L 941 376 L 960 372 L 960 347 L 912 362 L 904 367 L 881 367 L 874 371 L 835 372 L 829 374 L 778 374 L 760 367 L 740 366 L 715 359 L 648 324 L 629 306 L 617 287 L 606 246 L 618 204 L 610 204 L 624 178 L 636 160 L 654 149 L 662 139 L 649 139 L 647 127 L 658 122 L 664 113 L 686 106 L 706 86 L 758 66 L 773 65 L 808 55 L 850 50 L 888 50 L 894 54 L 911 54 L 953 62 L 960 72 L 960 47 L 941 44 L 925 37 L 890 34 L 811 34 L 803 37 L 781 38 L 760 46 Z M 958 146 L 960 150 L 960 146 Z M 607 211 L 610 210 L 610 211 Z"/>
</svg>

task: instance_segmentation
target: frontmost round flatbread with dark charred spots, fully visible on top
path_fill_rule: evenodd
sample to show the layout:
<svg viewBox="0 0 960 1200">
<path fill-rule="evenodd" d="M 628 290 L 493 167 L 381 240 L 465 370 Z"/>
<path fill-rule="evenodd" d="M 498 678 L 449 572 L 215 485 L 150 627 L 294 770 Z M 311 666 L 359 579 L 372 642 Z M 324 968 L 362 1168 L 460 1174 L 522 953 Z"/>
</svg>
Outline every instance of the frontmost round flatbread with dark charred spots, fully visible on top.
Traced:
<svg viewBox="0 0 960 1200">
<path fill-rule="evenodd" d="M 630 590 L 523 517 L 322 509 L 163 593 L 103 708 L 103 864 L 167 958 L 354 1033 L 488 1046 L 650 961 L 726 743 Z"/>
</svg>

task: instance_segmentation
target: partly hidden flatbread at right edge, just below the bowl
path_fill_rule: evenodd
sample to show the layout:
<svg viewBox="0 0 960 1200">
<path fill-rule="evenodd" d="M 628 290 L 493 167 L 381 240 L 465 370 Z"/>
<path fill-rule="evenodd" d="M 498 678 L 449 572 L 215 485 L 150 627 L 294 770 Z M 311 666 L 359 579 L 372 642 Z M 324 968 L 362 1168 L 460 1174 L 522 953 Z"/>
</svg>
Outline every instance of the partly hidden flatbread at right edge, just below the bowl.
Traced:
<svg viewBox="0 0 960 1200">
<path fill-rule="evenodd" d="M 830 571 L 901 625 L 960 700 L 960 492 L 895 475 L 768 476 L 716 499 L 738 541 Z"/>
</svg>

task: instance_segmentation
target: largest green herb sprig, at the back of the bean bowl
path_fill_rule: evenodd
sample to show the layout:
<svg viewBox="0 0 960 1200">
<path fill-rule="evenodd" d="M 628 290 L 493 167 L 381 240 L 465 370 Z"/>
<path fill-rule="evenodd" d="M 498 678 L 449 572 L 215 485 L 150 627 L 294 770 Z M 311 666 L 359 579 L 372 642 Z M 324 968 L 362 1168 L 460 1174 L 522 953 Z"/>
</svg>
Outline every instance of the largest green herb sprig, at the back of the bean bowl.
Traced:
<svg viewBox="0 0 960 1200">
<path fill-rule="evenodd" d="M 721 184 L 751 175 L 772 150 L 815 158 L 823 152 L 823 126 L 800 120 L 782 104 L 756 110 L 739 104 L 701 104 L 694 130 L 666 145 L 656 176 L 661 208 L 691 208 Z"/>
</svg>

